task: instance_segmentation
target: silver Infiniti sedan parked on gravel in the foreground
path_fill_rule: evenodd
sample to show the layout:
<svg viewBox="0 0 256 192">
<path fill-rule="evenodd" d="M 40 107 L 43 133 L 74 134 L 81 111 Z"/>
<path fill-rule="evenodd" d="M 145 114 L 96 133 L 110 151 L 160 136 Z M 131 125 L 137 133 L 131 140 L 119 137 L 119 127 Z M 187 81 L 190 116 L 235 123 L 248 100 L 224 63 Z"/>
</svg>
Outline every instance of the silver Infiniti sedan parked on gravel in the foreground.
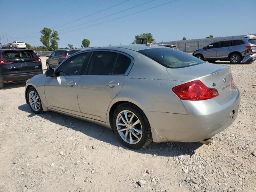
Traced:
<svg viewBox="0 0 256 192">
<path fill-rule="evenodd" d="M 207 142 L 236 119 L 230 67 L 156 45 L 93 48 L 26 83 L 34 113 L 54 111 L 112 128 L 129 148 Z"/>
</svg>

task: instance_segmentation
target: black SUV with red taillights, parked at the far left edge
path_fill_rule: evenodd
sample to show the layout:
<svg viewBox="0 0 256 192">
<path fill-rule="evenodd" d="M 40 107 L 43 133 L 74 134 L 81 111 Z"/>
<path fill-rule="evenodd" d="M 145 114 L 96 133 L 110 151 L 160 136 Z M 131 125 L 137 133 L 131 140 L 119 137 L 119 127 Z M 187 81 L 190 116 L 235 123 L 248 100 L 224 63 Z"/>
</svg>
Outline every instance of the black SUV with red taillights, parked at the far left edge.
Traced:
<svg viewBox="0 0 256 192">
<path fill-rule="evenodd" d="M 41 59 L 32 50 L 0 50 L 0 88 L 4 82 L 28 80 L 41 73 Z"/>
</svg>

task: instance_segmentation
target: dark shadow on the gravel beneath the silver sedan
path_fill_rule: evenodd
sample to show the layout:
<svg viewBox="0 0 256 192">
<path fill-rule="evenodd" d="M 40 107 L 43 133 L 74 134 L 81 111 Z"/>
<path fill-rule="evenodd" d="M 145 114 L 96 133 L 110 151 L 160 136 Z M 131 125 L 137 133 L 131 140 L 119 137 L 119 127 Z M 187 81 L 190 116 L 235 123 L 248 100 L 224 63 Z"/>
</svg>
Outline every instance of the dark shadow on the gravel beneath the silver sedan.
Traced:
<svg viewBox="0 0 256 192">
<path fill-rule="evenodd" d="M 73 129 L 75 131 L 82 132 L 83 134 L 92 137 L 97 140 L 112 144 L 116 147 L 121 146 L 126 150 L 132 150 L 134 152 L 143 153 L 143 154 L 152 154 L 156 156 L 180 156 L 184 154 L 193 155 L 197 148 L 202 146 L 199 142 L 194 143 L 182 143 L 182 142 L 169 142 L 169 143 L 151 143 L 146 148 L 139 150 L 133 150 L 125 147 L 122 143 L 116 138 L 116 135 L 111 129 L 105 128 L 98 124 L 87 122 L 85 120 L 80 120 L 70 116 L 58 114 L 56 112 L 46 112 L 43 114 L 34 114 L 30 110 L 28 104 L 23 104 L 18 107 L 19 110 L 29 113 L 28 117 L 40 116 L 50 122 L 59 124 L 66 128 Z"/>
</svg>

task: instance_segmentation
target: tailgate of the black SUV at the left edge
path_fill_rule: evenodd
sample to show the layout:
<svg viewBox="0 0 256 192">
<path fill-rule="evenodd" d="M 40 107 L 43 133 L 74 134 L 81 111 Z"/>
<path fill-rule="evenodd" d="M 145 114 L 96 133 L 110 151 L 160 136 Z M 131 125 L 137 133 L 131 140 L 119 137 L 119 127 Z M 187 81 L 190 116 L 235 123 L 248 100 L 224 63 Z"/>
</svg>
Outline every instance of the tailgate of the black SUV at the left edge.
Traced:
<svg viewBox="0 0 256 192">
<path fill-rule="evenodd" d="M 41 60 L 32 50 L 6 50 L 4 57 L 4 73 L 7 75 L 29 72 L 42 73 Z"/>
</svg>

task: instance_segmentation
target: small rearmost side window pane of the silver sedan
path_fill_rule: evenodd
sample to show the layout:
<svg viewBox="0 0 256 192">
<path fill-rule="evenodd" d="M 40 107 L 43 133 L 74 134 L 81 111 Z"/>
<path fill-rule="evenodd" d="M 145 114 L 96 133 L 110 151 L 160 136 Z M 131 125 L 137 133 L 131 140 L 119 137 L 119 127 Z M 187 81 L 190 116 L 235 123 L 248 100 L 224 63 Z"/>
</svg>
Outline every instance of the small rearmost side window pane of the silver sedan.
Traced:
<svg viewBox="0 0 256 192">
<path fill-rule="evenodd" d="M 113 70 L 113 75 L 124 75 L 128 67 L 130 66 L 130 64 L 131 64 L 130 58 L 122 54 L 118 54 L 116 64 Z"/>
</svg>

